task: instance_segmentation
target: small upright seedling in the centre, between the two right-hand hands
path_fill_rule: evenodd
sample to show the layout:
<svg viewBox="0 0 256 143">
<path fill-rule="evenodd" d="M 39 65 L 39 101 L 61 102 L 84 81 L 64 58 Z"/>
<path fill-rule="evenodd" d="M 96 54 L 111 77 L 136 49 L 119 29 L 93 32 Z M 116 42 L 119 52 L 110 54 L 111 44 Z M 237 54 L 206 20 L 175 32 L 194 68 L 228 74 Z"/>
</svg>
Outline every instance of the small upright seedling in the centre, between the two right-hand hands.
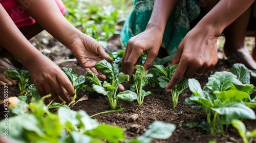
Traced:
<svg viewBox="0 0 256 143">
<path fill-rule="evenodd" d="M 143 103 L 144 97 L 152 94 L 150 91 L 145 91 L 142 88 L 148 84 L 148 77 L 152 77 L 152 74 L 147 74 L 142 65 L 135 65 L 136 72 L 133 74 L 133 84 L 131 84 L 131 90 L 137 93 L 137 102 L 139 105 Z"/>
</svg>

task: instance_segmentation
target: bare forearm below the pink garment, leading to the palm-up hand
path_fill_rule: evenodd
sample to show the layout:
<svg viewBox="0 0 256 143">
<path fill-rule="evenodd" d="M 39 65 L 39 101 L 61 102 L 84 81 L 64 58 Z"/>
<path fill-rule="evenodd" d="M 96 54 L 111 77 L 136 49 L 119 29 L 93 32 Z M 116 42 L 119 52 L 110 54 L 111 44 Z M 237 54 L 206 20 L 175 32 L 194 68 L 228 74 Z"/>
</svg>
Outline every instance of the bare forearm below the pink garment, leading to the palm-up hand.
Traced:
<svg viewBox="0 0 256 143">
<path fill-rule="evenodd" d="M 39 25 L 48 31 L 54 38 L 69 47 L 70 41 L 75 39 L 80 31 L 62 15 L 54 0 L 28 0 L 17 1 L 20 5 L 28 2 L 25 10 L 31 15 Z M 28 6 L 29 5 L 29 6 Z"/>
</svg>

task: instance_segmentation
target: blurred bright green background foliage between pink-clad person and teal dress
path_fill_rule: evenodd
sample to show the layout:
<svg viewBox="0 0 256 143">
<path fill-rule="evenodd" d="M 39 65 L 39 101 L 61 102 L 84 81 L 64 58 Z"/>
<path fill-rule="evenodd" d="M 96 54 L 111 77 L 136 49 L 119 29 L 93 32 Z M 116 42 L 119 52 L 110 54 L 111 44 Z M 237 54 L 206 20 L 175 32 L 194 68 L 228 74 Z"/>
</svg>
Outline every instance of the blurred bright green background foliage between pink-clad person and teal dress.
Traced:
<svg viewBox="0 0 256 143">
<path fill-rule="evenodd" d="M 106 48 L 106 40 L 116 33 L 119 12 L 104 1 L 64 0 L 65 17 L 81 32 L 93 37 Z"/>
</svg>

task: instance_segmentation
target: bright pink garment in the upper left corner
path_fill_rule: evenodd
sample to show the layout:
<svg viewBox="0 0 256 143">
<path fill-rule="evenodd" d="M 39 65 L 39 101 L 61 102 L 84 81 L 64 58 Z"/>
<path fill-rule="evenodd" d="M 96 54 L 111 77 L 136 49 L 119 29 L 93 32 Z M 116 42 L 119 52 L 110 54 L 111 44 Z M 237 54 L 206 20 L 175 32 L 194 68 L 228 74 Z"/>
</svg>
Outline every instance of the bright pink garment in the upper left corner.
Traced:
<svg viewBox="0 0 256 143">
<path fill-rule="evenodd" d="M 34 1 L 30 2 L 27 0 L 23 2 L 25 6 L 29 6 L 29 3 L 33 3 Z M 62 1 L 55 0 L 55 2 L 57 3 L 61 13 L 65 14 L 65 6 L 63 5 Z M 0 3 L 10 15 L 17 27 L 25 27 L 35 23 L 35 20 L 25 11 L 25 7 L 20 6 L 16 0 L 0 0 Z"/>
</svg>

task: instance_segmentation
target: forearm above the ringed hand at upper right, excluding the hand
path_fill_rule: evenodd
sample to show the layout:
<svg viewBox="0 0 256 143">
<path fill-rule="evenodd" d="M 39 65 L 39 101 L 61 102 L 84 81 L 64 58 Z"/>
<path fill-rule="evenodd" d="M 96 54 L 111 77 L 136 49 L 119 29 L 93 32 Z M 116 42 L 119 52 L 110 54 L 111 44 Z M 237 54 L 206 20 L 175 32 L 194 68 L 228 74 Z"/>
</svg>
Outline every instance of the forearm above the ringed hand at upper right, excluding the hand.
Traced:
<svg viewBox="0 0 256 143">
<path fill-rule="evenodd" d="M 198 22 L 195 28 L 204 29 L 206 33 L 218 37 L 253 2 L 254 0 L 222 0 Z"/>
</svg>

